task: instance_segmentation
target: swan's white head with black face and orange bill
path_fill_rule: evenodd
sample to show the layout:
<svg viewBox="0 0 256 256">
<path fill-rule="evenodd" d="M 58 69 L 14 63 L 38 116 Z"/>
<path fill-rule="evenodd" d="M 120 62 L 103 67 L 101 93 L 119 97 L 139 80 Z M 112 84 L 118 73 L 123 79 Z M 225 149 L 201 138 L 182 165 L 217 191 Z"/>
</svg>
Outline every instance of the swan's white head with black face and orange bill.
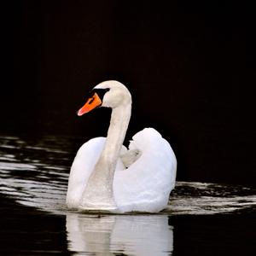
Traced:
<svg viewBox="0 0 256 256">
<path fill-rule="evenodd" d="M 78 115 L 90 112 L 94 108 L 118 108 L 131 104 L 131 94 L 124 84 L 109 80 L 97 84 L 86 96 L 85 104 L 79 109 Z"/>
</svg>

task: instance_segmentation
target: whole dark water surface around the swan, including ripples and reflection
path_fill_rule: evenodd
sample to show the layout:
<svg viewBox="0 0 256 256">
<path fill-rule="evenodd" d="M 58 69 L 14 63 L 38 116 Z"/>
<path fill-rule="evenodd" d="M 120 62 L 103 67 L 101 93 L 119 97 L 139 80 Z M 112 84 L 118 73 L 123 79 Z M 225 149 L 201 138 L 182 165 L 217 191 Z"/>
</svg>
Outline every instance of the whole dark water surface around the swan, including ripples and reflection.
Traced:
<svg viewBox="0 0 256 256">
<path fill-rule="evenodd" d="M 177 182 L 158 214 L 65 207 L 74 137 L 0 137 L 0 255 L 252 255 L 255 190 Z"/>
</svg>

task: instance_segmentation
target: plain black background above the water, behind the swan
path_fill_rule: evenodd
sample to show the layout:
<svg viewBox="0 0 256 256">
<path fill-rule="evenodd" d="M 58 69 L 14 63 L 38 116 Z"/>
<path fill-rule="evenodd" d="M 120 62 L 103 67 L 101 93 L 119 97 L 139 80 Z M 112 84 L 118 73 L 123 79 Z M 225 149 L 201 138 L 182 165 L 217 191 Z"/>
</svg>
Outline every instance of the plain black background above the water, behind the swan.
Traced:
<svg viewBox="0 0 256 256">
<path fill-rule="evenodd" d="M 133 96 L 127 140 L 143 127 L 160 131 L 178 180 L 255 182 L 241 5 L 23 0 L 2 10 L 1 133 L 105 136 L 109 109 L 75 112 L 88 90 L 116 79 Z"/>
</svg>

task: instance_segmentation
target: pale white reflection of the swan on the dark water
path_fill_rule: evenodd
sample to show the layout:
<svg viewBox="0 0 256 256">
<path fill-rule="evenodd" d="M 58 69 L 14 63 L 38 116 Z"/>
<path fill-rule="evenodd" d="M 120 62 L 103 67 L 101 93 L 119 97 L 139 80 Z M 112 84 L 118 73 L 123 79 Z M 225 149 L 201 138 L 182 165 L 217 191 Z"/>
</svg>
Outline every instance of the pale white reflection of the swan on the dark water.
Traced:
<svg viewBox="0 0 256 256">
<path fill-rule="evenodd" d="M 73 255 L 171 255 L 173 231 L 166 215 L 69 212 L 67 241 Z"/>
</svg>

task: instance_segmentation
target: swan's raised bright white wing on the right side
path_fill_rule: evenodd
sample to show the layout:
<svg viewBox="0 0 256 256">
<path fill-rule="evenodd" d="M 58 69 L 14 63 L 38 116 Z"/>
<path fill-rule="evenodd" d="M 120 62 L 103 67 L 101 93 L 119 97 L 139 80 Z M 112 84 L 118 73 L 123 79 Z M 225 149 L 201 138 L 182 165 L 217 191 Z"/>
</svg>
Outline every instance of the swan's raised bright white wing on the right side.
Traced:
<svg viewBox="0 0 256 256">
<path fill-rule="evenodd" d="M 166 207 L 175 185 L 175 154 L 153 128 L 137 132 L 132 139 L 129 149 L 139 150 L 141 156 L 127 169 L 115 172 L 115 201 L 120 212 L 159 212 Z"/>
</svg>

